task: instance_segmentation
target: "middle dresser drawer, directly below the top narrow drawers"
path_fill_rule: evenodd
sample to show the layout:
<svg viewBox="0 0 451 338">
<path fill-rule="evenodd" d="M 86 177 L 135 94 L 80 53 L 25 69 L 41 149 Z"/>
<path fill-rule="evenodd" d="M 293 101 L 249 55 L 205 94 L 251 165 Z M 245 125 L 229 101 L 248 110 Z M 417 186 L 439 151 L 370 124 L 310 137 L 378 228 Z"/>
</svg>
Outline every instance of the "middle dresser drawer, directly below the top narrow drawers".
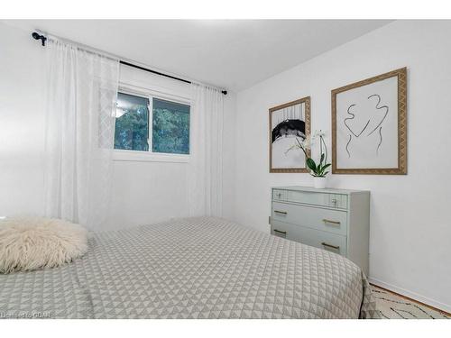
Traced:
<svg viewBox="0 0 451 338">
<path fill-rule="evenodd" d="M 347 233 L 347 213 L 345 211 L 273 202 L 272 219 L 324 232 L 341 235 Z"/>
</svg>

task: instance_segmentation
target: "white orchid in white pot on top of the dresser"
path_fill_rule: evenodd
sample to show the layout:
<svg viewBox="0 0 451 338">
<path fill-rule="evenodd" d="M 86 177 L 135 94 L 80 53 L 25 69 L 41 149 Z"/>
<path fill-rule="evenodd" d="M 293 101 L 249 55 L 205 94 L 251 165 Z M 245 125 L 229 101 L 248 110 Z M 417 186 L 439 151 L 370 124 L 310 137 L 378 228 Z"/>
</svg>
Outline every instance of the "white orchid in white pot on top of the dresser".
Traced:
<svg viewBox="0 0 451 338">
<path fill-rule="evenodd" d="M 328 174 L 327 168 L 330 167 L 330 163 L 327 163 L 327 146 L 326 142 L 324 142 L 324 137 L 326 133 L 323 131 L 317 131 L 313 134 L 313 137 L 308 135 L 303 141 L 299 142 L 299 139 L 296 138 L 296 143 L 293 144 L 288 150 L 292 151 L 295 149 L 299 149 L 304 152 L 306 157 L 306 166 L 310 170 L 310 175 L 313 176 L 313 185 L 317 188 L 325 188 L 326 187 L 326 175 Z M 319 140 L 319 162 L 313 160 L 308 156 L 308 150 L 311 149 L 311 144 L 315 142 L 315 140 Z"/>
</svg>

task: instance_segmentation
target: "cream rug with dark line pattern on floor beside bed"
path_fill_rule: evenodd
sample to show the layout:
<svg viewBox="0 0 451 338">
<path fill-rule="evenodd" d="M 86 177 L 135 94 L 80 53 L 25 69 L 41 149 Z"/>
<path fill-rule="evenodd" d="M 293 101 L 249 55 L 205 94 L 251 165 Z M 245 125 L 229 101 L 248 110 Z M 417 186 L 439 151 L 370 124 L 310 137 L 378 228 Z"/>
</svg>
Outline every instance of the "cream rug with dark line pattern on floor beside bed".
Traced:
<svg viewBox="0 0 451 338">
<path fill-rule="evenodd" d="M 383 288 L 371 286 L 382 319 L 451 319 L 450 316 L 400 297 Z"/>
</svg>

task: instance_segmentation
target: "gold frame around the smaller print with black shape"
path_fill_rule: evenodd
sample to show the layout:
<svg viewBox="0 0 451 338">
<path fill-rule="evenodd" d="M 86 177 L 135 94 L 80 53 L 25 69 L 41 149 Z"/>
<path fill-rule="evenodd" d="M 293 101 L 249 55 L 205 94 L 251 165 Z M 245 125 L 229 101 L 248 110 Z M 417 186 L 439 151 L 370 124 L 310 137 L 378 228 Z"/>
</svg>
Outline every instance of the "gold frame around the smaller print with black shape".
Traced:
<svg viewBox="0 0 451 338">
<path fill-rule="evenodd" d="M 269 124 L 270 173 L 308 172 L 308 169 L 306 168 L 305 163 L 303 163 L 303 167 L 299 166 L 299 168 L 281 168 L 281 167 L 274 168 L 273 163 L 272 163 L 272 157 L 273 157 L 273 150 L 272 150 L 273 118 L 272 117 L 273 117 L 273 114 L 276 114 L 276 112 L 284 110 L 285 108 L 290 108 L 291 106 L 294 108 L 297 105 L 300 105 L 300 107 L 303 106 L 302 112 L 303 112 L 304 120 L 302 122 L 304 123 L 304 134 L 307 137 L 310 134 L 310 96 L 302 97 L 302 98 L 299 98 L 299 100 L 291 101 L 291 102 L 283 104 L 283 105 L 274 106 L 274 107 L 270 108 L 270 110 L 269 110 L 269 117 L 270 117 L 270 119 L 269 119 L 270 120 L 270 124 Z M 310 152 L 308 151 L 308 155 L 309 155 L 309 153 Z M 302 163 L 300 165 L 302 165 Z"/>
</svg>

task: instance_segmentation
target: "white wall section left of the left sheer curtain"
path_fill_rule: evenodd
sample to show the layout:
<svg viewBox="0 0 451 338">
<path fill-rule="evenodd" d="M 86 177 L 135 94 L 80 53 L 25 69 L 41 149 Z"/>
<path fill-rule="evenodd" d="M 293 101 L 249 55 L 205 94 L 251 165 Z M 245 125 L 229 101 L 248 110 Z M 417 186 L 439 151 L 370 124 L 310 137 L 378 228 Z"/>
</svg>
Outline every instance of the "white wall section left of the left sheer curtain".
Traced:
<svg viewBox="0 0 451 338">
<path fill-rule="evenodd" d="M 0 216 L 41 214 L 44 50 L 3 23 L 0 39 Z"/>
</svg>

